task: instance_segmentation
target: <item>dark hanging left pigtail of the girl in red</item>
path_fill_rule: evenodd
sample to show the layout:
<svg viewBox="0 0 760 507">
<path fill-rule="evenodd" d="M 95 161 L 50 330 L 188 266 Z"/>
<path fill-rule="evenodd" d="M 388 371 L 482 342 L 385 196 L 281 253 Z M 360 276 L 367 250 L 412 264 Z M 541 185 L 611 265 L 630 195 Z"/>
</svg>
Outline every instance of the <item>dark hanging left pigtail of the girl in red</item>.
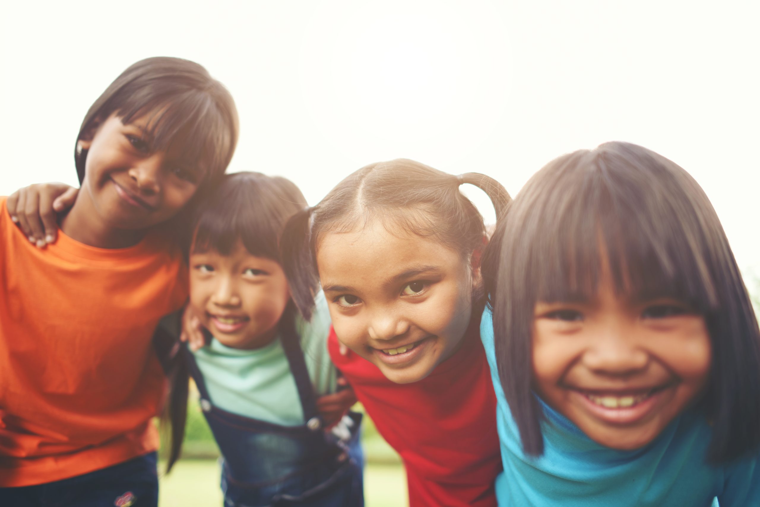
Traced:
<svg viewBox="0 0 760 507">
<path fill-rule="evenodd" d="M 315 206 L 305 208 L 291 216 L 280 239 L 280 257 L 290 296 L 306 320 L 312 318 L 318 284 L 310 230 L 314 209 Z"/>
</svg>

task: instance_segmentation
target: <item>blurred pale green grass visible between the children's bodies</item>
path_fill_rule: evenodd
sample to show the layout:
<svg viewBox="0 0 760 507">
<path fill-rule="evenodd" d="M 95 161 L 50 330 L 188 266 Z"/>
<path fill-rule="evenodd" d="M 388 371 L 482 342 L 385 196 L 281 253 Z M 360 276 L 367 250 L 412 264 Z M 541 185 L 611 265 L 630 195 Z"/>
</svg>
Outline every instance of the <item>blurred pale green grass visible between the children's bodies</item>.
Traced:
<svg viewBox="0 0 760 507">
<path fill-rule="evenodd" d="M 361 405 L 354 408 L 363 411 Z M 364 414 L 362 445 L 366 456 L 364 498 L 367 507 L 406 507 L 407 480 L 397 453 L 388 446 Z M 162 449 L 165 446 L 162 445 Z M 169 475 L 162 461 L 160 507 L 208 507 L 222 505 L 219 488 L 219 448 L 206 424 L 195 396 L 188 402 L 188 420 L 182 458 Z"/>
</svg>

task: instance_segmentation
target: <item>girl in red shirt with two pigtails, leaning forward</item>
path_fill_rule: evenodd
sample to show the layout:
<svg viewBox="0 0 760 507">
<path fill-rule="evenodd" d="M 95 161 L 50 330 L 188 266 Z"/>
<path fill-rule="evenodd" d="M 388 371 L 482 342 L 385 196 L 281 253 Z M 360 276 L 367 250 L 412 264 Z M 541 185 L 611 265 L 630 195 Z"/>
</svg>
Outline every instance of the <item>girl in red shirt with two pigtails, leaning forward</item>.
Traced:
<svg viewBox="0 0 760 507">
<path fill-rule="evenodd" d="M 283 233 L 293 300 L 308 316 L 321 282 L 331 357 L 401 455 L 411 507 L 496 505 L 496 398 L 478 332 L 486 230 L 462 183 L 502 216 L 509 196 L 492 178 L 397 159 L 354 172 Z"/>
</svg>

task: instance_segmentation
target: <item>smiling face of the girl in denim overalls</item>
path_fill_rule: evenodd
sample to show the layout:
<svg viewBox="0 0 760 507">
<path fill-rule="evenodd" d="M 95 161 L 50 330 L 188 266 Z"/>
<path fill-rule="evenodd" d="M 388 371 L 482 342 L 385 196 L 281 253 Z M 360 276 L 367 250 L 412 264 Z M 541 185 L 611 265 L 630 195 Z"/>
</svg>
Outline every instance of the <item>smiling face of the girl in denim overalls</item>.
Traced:
<svg viewBox="0 0 760 507">
<path fill-rule="evenodd" d="M 271 343 L 288 301 L 280 264 L 251 255 L 241 241 L 230 255 L 209 250 L 190 256 L 190 304 L 223 345 L 252 349 Z"/>
</svg>

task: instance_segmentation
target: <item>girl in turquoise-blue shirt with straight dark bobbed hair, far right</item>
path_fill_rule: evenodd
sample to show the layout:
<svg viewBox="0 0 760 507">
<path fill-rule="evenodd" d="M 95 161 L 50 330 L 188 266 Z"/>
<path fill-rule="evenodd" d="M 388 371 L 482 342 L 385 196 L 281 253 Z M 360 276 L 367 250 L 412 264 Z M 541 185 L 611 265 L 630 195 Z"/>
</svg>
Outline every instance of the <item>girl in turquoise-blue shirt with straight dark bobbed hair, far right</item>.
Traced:
<svg viewBox="0 0 760 507">
<path fill-rule="evenodd" d="M 549 162 L 483 277 L 499 505 L 760 505 L 760 332 L 686 171 L 619 142 Z"/>
</svg>

